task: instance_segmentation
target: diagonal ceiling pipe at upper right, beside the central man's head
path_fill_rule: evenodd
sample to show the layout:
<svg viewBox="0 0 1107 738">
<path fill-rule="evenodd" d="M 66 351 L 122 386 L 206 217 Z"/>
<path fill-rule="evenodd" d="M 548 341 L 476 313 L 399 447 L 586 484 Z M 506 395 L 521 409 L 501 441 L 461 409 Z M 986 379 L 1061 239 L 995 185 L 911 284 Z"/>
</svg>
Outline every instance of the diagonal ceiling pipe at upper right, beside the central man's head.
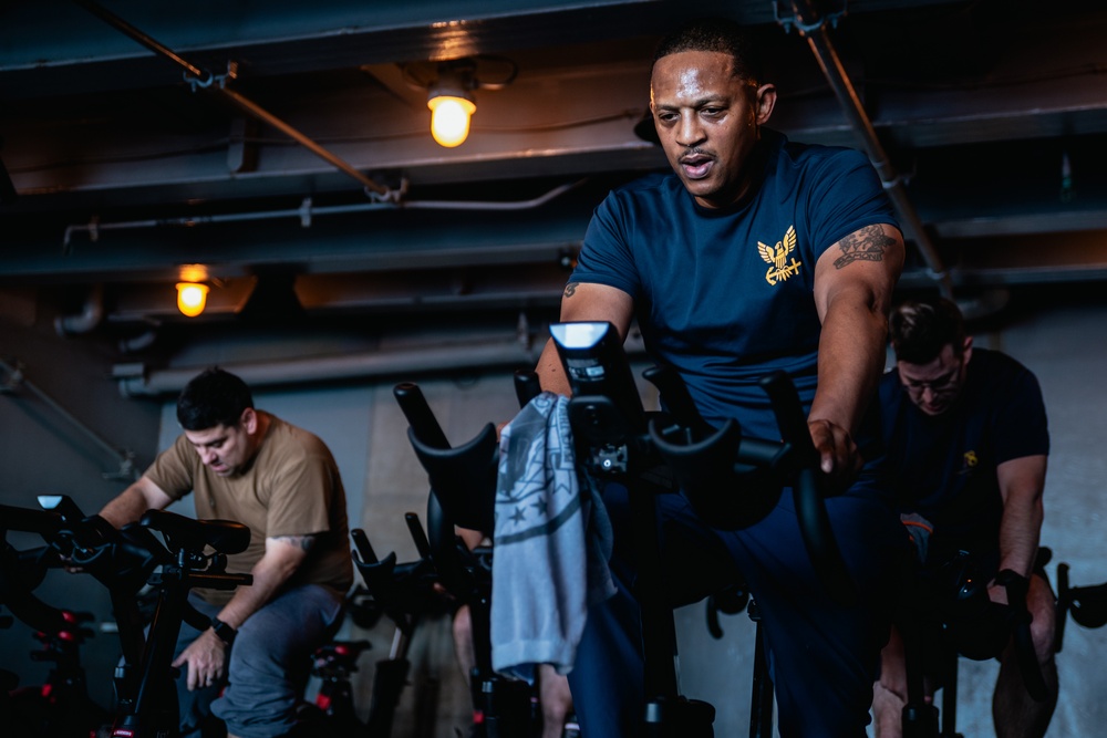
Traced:
<svg viewBox="0 0 1107 738">
<path fill-rule="evenodd" d="M 808 45 L 814 52 L 819 66 L 823 69 L 823 74 L 826 76 L 827 82 L 829 82 L 830 89 L 834 91 L 842 112 L 846 114 L 846 118 L 849 121 L 853 132 L 859 136 L 861 145 L 869 156 L 869 160 L 872 163 L 873 168 L 876 168 L 884 190 L 891 198 L 907 237 L 918 247 L 923 261 L 927 262 L 927 267 L 930 270 L 930 277 L 938 282 L 942 295 L 952 300 L 953 283 L 950 279 L 950 273 L 942 263 L 942 259 L 938 254 L 930 235 L 923 227 L 922 220 L 920 220 L 919 214 L 914 209 L 914 205 L 908 197 L 902 177 L 896 173 L 891 162 L 888 160 L 888 155 L 884 153 L 880 139 L 877 138 L 876 128 L 873 128 L 872 122 L 869 119 L 868 113 L 866 113 L 865 106 L 861 104 L 861 98 L 857 94 L 849 74 L 846 73 L 846 69 L 838 56 L 834 43 L 830 41 L 827 23 L 837 23 L 838 17 L 845 14 L 846 0 L 841 1 L 844 8 L 841 12 L 828 13 L 826 15 L 819 14 L 811 0 L 790 0 L 789 6 L 792 7 L 793 18 L 783 18 L 779 15 L 779 2 L 776 0 L 774 0 L 773 9 L 777 13 L 777 22 L 786 31 L 795 25 L 800 35 L 807 39 Z"/>
</svg>

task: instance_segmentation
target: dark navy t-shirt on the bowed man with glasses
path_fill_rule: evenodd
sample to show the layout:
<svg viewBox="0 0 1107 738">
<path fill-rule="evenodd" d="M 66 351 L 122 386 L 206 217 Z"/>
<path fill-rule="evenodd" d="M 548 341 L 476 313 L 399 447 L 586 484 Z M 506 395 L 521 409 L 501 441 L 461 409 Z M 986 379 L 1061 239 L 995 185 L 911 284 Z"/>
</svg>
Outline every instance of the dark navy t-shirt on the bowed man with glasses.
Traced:
<svg viewBox="0 0 1107 738">
<path fill-rule="evenodd" d="M 973 349 L 961 394 L 945 413 L 915 407 L 896 370 L 881 380 L 880 406 L 900 510 L 934 523 L 941 555 L 996 551 L 1003 512 L 996 467 L 1049 453 L 1034 374 L 1006 354 Z"/>
</svg>

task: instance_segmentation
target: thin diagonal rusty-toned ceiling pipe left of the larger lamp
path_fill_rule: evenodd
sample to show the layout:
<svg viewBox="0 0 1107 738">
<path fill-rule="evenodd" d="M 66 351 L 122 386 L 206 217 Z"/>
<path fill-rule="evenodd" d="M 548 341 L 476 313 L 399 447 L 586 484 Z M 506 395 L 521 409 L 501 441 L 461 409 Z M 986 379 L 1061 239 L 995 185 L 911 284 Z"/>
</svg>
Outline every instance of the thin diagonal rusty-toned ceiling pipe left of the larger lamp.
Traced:
<svg viewBox="0 0 1107 738">
<path fill-rule="evenodd" d="M 165 44 L 159 43 L 155 39 L 151 38 L 148 34 L 142 32 L 134 25 L 127 23 L 125 20 L 123 20 L 115 13 L 106 10 L 105 8 L 102 8 L 100 4 L 95 2 L 92 2 L 92 0 L 73 0 L 73 2 L 81 6 L 82 8 L 91 12 L 93 15 L 96 15 L 101 20 L 105 21 L 107 24 L 112 25 L 113 28 L 121 31 L 125 35 L 130 37 L 132 40 L 137 41 L 142 45 L 146 46 L 154 53 L 161 54 L 162 56 L 165 56 L 173 63 L 183 67 L 185 70 L 185 80 L 187 80 L 193 85 L 194 90 L 197 86 L 199 86 L 199 87 L 210 89 L 214 92 L 223 95 L 225 100 L 229 101 L 238 108 L 262 121 L 263 123 L 268 123 L 269 125 L 273 126 L 284 135 L 287 135 L 289 138 L 302 145 L 304 148 L 307 148 L 309 152 L 311 152 L 319 158 L 323 159 L 331 166 L 340 169 L 341 171 L 344 171 L 345 174 L 356 179 L 365 188 L 365 193 L 371 197 L 385 201 L 394 201 L 403 197 L 405 187 L 401 186 L 400 189 L 392 189 L 390 187 L 385 187 L 384 185 L 374 181 L 370 177 L 365 176 L 364 174 L 355 169 L 352 165 L 339 158 L 335 154 L 331 153 L 330 150 L 323 148 L 318 143 L 312 141 L 310 137 L 308 137 L 300 131 L 293 128 L 291 125 L 280 119 L 269 111 L 265 110 L 254 101 L 235 92 L 234 90 L 227 89 L 225 86 L 225 82 L 228 75 L 215 75 L 205 69 L 196 66 L 195 64 L 184 59 L 183 56 L 177 54 L 175 51 L 173 51 Z"/>
</svg>

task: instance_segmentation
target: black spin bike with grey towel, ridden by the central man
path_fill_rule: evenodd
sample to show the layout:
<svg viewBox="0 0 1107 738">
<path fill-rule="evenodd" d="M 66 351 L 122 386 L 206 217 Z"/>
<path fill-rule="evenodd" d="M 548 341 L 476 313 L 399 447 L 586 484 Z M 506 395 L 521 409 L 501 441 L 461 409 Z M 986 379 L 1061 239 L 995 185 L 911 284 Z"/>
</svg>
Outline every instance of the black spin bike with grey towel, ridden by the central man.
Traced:
<svg viewBox="0 0 1107 738">
<path fill-rule="evenodd" d="M 851 602 L 855 585 L 823 505 L 818 455 L 799 398 L 786 376 L 767 378 L 762 386 L 785 440 L 744 438 L 733 420 L 718 430 L 708 427 L 675 371 L 660 367 L 645 376 L 661 389 L 670 412 L 651 417 L 641 405 L 613 326 L 561 323 L 551 325 L 550 333 L 573 393 L 569 420 L 578 459 L 584 459 L 588 474 L 622 481 L 632 490 L 631 524 L 640 562 L 635 594 L 642 611 L 648 696 L 642 735 L 710 737 L 714 708 L 686 699 L 677 688 L 672 607 L 660 581 L 655 496 L 683 489 L 705 519 L 741 527 L 764 517 L 775 507 L 784 486 L 792 484 L 805 545 L 820 580 L 832 596 Z M 532 373 L 516 375 L 516 392 L 520 403 L 537 394 Z M 441 503 L 447 520 L 492 530 L 498 457 L 495 428 L 488 424 L 473 440 L 449 448 L 425 403 L 412 404 L 411 409 L 405 407 L 411 423 L 408 437 L 428 472 L 432 500 Z M 720 487 L 727 484 L 744 493 L 718 496 Z M 758 633 L 752 736 L 772 732 L 773 690 L 761 643 Z"/>
</svg>

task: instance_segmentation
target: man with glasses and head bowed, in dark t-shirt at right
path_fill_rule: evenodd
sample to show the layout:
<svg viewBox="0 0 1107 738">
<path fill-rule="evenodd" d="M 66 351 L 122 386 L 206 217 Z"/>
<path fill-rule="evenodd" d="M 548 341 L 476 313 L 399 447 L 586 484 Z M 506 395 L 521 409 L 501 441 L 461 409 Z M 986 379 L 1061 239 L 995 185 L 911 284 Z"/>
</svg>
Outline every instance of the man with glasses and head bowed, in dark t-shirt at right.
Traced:
<svg viewBox="0 0 1107 738">
<path fill-rule="evenodd" d="M 897 502 L 902 513 L 922 516 L 911 520 L 932 531 L 928 571 L 966 551 L 990 578 L 1010 570 L 1030 579 L 1031 633 L 1047 698 L 1039 703 L 1027 694 L 1013 646 L 1000 643 L 992 713 L 1001 738 L 1039 738 L 1057 703 L 1054 596 L 1033 571 L 1049 453 L 1042 391 L 1015 360 L 973 349 L 961 312 L 949 300 L 906 302 L 892 312 L 890 325 L 897 361 L 880 384 L 880 401 Z M 1007 601 L 994 580 L 987 593 L 994 602 Z M 875 688 L 880 738 L 901 735 L 906 698 L 903 646 L 893 630 Z"/>
</svg>

